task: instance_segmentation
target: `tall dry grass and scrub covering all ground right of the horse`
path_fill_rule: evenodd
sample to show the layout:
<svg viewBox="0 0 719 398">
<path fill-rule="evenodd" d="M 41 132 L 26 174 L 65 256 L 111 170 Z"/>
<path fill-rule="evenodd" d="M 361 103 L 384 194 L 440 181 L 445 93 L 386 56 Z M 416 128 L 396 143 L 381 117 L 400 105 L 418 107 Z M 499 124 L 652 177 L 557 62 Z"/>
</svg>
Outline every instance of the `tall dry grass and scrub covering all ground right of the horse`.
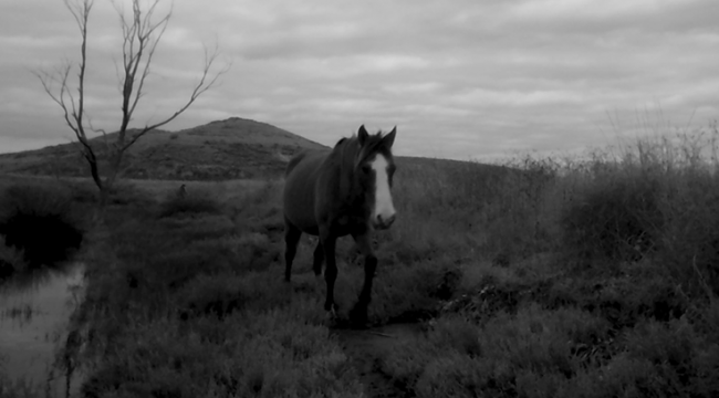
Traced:
<svg viewBox="0 0 719 398">
<path fill-rule="evenodd" d="M 383 371 L 419 397 L 719 394 L 718 138 L 398 171 L 386 255 L 462 276 Z"/>
</svg>

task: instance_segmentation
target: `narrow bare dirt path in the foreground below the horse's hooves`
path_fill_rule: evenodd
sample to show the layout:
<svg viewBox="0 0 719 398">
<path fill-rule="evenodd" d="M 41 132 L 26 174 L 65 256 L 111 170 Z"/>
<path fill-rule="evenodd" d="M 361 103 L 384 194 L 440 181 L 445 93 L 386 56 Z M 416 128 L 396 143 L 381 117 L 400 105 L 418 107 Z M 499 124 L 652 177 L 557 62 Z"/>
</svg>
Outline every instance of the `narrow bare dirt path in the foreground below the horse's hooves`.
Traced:
<svg viewBox="0 0 719 398">
<path fill-rule="evenodd" d="M 371 398 L 410 397 L 395 386 L 381 370 L 382 358 L 395 346 L 416 339 L 423 333 L 419 324 L 392 324 L 368 329 L 334 329 L 340 345 L 354 364 Z"/>
</svg>

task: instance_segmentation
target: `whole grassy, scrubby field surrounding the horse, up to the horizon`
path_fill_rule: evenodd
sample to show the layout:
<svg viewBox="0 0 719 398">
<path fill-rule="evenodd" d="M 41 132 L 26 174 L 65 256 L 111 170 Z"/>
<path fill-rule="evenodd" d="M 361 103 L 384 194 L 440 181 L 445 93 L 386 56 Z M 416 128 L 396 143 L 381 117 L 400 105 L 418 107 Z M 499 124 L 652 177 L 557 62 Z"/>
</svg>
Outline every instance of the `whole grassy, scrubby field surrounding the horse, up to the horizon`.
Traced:
<svg viewBox="0 0 719 398">
<path fill-rule="evenodd" d="M 86 181 L 0 188 L 52 190 L 38 207 L 85 231 L 85 300 L 58 353 L 84 397 L 716 397 L 716 136 L 511 167 L 400 159 L 365 331 L 343 327 L 363 277 L 350 239 L 336 323 L 311 238 L 282 281 L 281 179 L 185 197 L 127 180 L 103 213 Z"/>
</svg>

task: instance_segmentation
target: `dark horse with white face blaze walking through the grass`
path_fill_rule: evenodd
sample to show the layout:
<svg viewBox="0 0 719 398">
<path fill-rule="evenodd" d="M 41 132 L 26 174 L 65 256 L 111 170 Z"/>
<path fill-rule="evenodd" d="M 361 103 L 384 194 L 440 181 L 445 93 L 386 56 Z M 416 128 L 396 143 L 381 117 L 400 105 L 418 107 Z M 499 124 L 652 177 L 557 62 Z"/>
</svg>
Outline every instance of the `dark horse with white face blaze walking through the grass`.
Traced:
<svg viewBox="0 0 719 398">
<path fill-rule="evenodd" d="M 335 243 L 352 235 L 364 255 L 364 284 L 351 320 L 366 323 L 377 256 L 372 249 L 375 229 L 395 221 L 392 200 L 395 163 L 392 145 L 397 127 L 371 135 L 364 125 L 356 135 L 340 139 L 331 150 L 302 151 L 288 164 L 283 191 L 285 224 L 284 280 L 290 282 L 292 261 L 302 233 L 319 237 L 313 271 L 319 277 L 325 262 L 324 310 L 335 316 L 334 283 L 337 277 Z"/>
</svg>

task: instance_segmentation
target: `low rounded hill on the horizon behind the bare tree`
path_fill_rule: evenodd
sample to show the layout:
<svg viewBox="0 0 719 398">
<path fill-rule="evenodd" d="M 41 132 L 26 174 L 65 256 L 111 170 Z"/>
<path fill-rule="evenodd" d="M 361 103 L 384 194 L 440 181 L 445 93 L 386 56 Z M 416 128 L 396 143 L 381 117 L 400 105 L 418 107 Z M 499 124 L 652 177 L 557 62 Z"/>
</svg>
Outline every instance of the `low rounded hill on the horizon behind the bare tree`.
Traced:
<svg viewBox="0 0 719 398">
<path fill-rule="evenodd" d="M 111 143 L 115 134 L 107 135 Z M 106 153 L 105 138 L 91 142 L 102 157 Z M 87 176 L 87 165 L 77 145 L 2 154 L 0 172 Z M 128 149 L 123 175 L 181 180 L 278 177 L 292 155 L 320 148 L 326 147 L 267 123 L 231 117 L 179 132 L 148 133 Z"/>
</svg>

